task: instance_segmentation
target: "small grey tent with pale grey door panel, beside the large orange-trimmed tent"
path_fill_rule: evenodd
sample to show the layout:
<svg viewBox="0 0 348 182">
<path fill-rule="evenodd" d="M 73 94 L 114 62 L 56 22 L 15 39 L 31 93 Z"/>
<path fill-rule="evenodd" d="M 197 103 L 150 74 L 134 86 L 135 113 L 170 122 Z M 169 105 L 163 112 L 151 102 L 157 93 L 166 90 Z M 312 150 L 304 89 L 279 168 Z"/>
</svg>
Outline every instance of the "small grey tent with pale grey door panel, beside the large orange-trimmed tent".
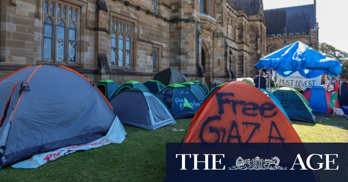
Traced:
<svg viewBox="0 0 348 182">
<path fill-rule="evenodd" d="M 148 90 L 130 88 L 111 99 L 122 124 L 144 129 L 176 124 L 167 106 Z"/>
</svg>

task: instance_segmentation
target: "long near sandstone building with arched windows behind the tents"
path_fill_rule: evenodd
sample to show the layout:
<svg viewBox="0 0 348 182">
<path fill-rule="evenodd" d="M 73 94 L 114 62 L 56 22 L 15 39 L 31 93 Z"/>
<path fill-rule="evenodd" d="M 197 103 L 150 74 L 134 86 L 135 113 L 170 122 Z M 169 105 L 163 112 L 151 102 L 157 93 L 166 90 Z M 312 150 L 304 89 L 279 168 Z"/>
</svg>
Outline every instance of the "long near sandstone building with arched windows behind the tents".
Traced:
<svg viewBox="0 0 348 182">
<path fill-rule="evenodd" d="M 0 1 L 0 78 L 47 63 L 121 84 L 173 67 L 209 85 L 254 77 L 266 54 L 262 0 Z"/>
</svg>

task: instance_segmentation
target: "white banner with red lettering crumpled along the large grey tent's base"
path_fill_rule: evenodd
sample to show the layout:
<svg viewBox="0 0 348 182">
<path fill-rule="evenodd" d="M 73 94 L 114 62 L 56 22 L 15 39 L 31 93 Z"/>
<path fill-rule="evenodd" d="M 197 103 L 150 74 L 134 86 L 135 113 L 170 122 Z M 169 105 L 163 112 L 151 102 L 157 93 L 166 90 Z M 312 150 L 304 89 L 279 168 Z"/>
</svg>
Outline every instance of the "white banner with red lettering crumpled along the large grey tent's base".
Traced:
<svg viewBox="0 0 348 182">
<path fill-rule="evenodd" d="M 41 165 L 48 163 L 49 161 L 56 160 L 59 157 L 63 157 L 65 155 L 76 152 L 78 150 L 89 150 L 89 149 L 101 147 L 103 145 L 107 145 L 110 143 L 120 144 L 125 140 L 126 134 L 127 133 L 125 133 L 123 125 L 121 124 L 120 120 L 116 116 L 116 118 L 113 121 L 108 133 L 105 136 L 101 137 L 100 139 L 97 139 L 91 143 L 86 143 L 86 144 L 82 144 L 82 145 L 75 145 L 75 146 L 70 146 L 70 147 L 63 147 L 63 148 L 60 148 L 60 149 L 52 151 L 52 152 L 41 153 L 41 154 L 33 156 L 30 159 L 16 163 L 16 164 L 12 165 L 11 167 L 13 167 L 13 168 L 37 168 Z"/>
</svg>

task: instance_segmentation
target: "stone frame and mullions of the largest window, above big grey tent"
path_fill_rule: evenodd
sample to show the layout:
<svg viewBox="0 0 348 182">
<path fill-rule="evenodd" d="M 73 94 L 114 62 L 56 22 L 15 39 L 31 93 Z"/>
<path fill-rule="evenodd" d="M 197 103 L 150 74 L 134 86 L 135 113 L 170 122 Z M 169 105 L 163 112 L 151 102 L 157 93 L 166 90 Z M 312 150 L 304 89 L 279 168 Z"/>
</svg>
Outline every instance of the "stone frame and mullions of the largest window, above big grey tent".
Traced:
<svg viewBox="0 0 348 182">
<path fill-rule="evenodd" d="M 42 27 L 41 27 L 41 61 L 42 62 L 47 62 L 47 63 L 64 63 L 64 64 L 69 64 L 69 65 L 79 65 L 81 66 L 83 64 L 83 61 L 84 60 L 84 54 L 82 52 L 83 50 L 83 47 L 85 45 L 84 41 L 81 40 L 81 37 L 84 37 L 84 30 L 86 29 L 86 22 L 87 22 L 87 19 L 86 19 L 86 12 L 87 12 L 87 3 L 86 2 L 81 2 L 79 0 L 47 0 L 48 1 L 48 5 L 50 5 L 50 2 L 54 2 L 55 3 L 55 8 L 57 8 L 57 3 L 60 3 L 61 5 L 64 4 L 64 5 L 67 5 L 68 7 L 69 6 L 73 6 L 75 8 L 78 8 L 78 18 L 77 18 L 77 22 L 76 22 L 76 26 L 77 26 L 77 31 L 76 31 L 76 52 L 75 52 L 75 62 L 68 62 L 68 54 L 66 54 L 66 59 L 65 59 L 65 62 L 56 62 L 55 61 L 55 49 L 52 50 L 53 52 L 53 56 L 52 56 L 52 60 L 53 61 L 44 61 L 43 59 L 43 52 L 44 52 L 44 20 L 46 18 L 46 16 L 50 15 L 48 13 L 48 15 L 45 15 L 44 14 L 44 3 L 45 3 L 45 0 L 44 1 L 38 1 L 39 3 L 37 4 L 37 6 L 39 6 L 40 8 L 38 8 L 38 11 L 35 12 L 35 18 L 38 18 L 38 19 L 41 19 L 42 17 Z M 62 10 L 61 10 L 62 11 Z M 55 18 L 56 18 L 56 13 L 57 13 L 57 10 L 55 9 Z M 67 14 L 69 13 L 69 9 L 67 9 Z M 68 15 L 69 16 L 69 15 Z M 50 15 L 50 17 L 52 18 L 52 15 Z M 67 17 L 68 19 L 69 17 Z M 69 20 L 68 20 L 69 22 Z M 67 31 L 69 31 L 69 24 L 65 26 Z M 54 32 L 53 32 L 53 35 L 56 36 L 56 24 L 54 24 Z M 68 33 L 65 34 L 66 36 L 66 42 L 69 42 L 69 37 L 68 37 Z M 55 39 L 53 39 L 55 41 Z M 55 44 L 56 42 L 54 42 Z M 55 46 L 55 45 L 53 45 Z M 68 44 L 66 44 L 66 46 L 68 46 Z"/>
</svg>

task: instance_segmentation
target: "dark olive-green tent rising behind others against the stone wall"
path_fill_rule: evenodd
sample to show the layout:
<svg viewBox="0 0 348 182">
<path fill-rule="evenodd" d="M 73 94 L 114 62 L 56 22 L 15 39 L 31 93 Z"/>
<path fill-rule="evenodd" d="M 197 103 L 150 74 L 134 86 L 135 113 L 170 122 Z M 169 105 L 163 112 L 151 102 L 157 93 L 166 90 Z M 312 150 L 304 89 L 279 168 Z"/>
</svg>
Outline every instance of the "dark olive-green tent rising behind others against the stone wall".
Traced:
<svg viewBox="0 0 348 182">
<path fill-rule="evenodd" d="M 160 81 L 165 86 L 170 84 L 181 84 L 187 82 L 186 77 L 174 68 L 167 68 L 155 75 L 153 80 Z"/>
</svg>

